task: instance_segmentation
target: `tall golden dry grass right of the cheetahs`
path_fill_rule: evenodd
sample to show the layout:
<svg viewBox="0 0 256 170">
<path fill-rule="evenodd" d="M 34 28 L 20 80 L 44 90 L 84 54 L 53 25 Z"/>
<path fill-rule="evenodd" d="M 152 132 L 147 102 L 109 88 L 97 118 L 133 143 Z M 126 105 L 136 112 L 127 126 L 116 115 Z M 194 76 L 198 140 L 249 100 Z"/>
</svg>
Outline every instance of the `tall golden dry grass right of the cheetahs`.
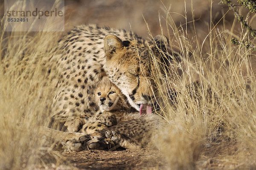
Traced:
<svg viewBox="0 0 256 170">
<path fill-rule="evenodd" d="M 234 21 L 230 30 L 210 24 L 200 34 L 195 24 L 192 30 L 188 23 L 177 27 L 167 8 L 166 13 L 170 46 L 180 59 L 153 58 L 161 112 L 169 122 L 154 139 L 156 146 L 174 170 L 255 169 L 256 53 L 230 42 L 233 36 L 247 40 L 246 31 L 234 34 Z"/>
</svg>

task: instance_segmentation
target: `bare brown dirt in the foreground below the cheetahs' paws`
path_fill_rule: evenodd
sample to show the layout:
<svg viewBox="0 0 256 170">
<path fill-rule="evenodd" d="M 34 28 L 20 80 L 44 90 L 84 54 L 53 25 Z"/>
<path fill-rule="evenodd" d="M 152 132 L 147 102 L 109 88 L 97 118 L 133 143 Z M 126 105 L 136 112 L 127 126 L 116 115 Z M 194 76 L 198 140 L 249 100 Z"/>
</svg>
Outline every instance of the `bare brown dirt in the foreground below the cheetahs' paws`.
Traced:
<svg viewBox="0 0 256 170">
<path fill-rule="evenodd" d="M 138 150 L 84 150 L 62 153 L 79 169 L 139 170 L 166 169 L 159 151 L 149 148 Z"/>
</svg>

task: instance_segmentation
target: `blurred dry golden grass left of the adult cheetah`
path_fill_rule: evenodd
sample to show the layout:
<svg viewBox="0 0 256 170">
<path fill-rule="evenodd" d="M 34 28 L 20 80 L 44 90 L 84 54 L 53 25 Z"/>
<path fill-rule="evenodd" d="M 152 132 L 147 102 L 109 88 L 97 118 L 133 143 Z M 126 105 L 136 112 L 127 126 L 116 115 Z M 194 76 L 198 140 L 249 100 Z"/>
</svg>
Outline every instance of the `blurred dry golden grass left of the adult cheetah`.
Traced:
<svg viewBox="0 0 256 170">
<path fill-rule="evenodd" d="M 47 125 L 52 86 L 45 85 L 42 51 L 58 34 L 3 32 L 0 29 L 0 169 L 23 169 L 41 162 L 52 150 L 38 134 Z M 57 156 L 58 159 L 58 156 Z"/>
</svg>

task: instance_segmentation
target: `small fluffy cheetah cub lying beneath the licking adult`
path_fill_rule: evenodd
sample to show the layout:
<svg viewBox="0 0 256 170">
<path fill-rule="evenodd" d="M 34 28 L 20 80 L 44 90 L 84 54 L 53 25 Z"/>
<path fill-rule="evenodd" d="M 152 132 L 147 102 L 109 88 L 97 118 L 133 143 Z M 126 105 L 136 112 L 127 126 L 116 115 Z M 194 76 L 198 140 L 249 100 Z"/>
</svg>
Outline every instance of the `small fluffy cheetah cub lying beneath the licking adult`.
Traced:
<svg viewBox="0 0 256 170">
<path fill-rule="evenodd" d="M 109 150 L 118 147 L 133 149 L 146 147 L 150 145 L 148 141 L 151 141 L 157 130 L 164 125 L 161 116 L 140 115 L 139 111 L 131 108 L 125 102 L 126 98 L 119 88 L 106 76 L 103 77 L 94 94 L 99 111 L 89 119 L 85 119 L 86 115 L 78 116 L 72 124 L 80 134 L 90 135 L 90 144 L 86 146 L 81 142 L 79 147 L 73 149 L 67 147 L 67 150 L 80 151 L 81 148 L 87 147 Z"/>
</svg>

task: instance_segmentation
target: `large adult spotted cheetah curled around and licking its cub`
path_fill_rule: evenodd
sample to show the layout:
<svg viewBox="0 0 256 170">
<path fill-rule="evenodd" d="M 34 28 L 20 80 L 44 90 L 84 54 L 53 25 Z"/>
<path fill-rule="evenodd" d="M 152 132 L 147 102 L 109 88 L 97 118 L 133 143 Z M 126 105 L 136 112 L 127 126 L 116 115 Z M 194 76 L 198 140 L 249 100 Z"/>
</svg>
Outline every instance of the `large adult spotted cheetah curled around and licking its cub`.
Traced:
<svg viewBox="0 0 256 170">
<path fill-rule="evenodd" d="M 151 114 L 156 101 L 154 93 L 157 91 L 152 78 L 151 57 L 163 60 L 167 45 L 168 40 L 162 35 L 144 40 L 131 31 L 96 25 L 76 27 L 58 41 L 49 59 L 54 63 L 52 70 L 60 75 L 52 104 L 54 114 L 50 127 L 73 132 L 69 135 L 58 132 L 60 139 L 65 140 L 73 134 L 74 137 L 66 144 L 68 150 L 104 149 L 116 144 L 129 147 L 131 143 L 147 143 L 146 140 L 142 142 L 143 136 L 150 134 L 150 128 L 160 127 L 161 122 Z M 136 119 L 91 135 L 74 133 L 77 129 L 69 127 L 76 117 L 84 115 L 86 122 L 99 110 L 93 101 L 93 91 L 105 76 L 140 114 Z"/>
</svg>

